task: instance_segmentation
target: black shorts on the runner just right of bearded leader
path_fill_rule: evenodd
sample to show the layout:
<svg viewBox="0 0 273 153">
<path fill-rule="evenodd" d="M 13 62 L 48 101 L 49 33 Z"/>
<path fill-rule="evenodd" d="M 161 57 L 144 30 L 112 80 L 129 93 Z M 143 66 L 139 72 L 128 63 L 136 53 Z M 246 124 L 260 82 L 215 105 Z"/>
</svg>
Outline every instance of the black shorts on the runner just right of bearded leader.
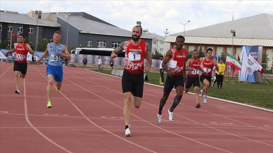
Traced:
<svg viewBox="0 0 273 153">
<path fill-rule="evenodd" d="M 169 75 L 167 75 L 163 91 L 166 93 L 170 93 L 172 89 L 174 88 L 174 85 L 175 87 L 177 86 L 184 87 L 184 76 L 179 75 L 179 76 L 170 77 Z"/>
</svg>

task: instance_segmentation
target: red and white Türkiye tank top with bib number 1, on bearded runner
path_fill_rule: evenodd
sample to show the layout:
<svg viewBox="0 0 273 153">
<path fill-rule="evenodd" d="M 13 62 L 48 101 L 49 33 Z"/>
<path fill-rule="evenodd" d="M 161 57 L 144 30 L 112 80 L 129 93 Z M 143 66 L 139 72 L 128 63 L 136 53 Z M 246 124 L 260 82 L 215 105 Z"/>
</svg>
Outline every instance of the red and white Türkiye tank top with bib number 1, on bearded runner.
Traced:
<svg viewBox="0 0 273 153">
<path fill-rule="evenodd" d="M 140 43 L 135 46 L 131 41 L 132 40 L 125 42 L 126 51 L 124 69 L 132 74 L 141 74 L 144 70 L 146 42 L 141 40 Z"/>
</svg>

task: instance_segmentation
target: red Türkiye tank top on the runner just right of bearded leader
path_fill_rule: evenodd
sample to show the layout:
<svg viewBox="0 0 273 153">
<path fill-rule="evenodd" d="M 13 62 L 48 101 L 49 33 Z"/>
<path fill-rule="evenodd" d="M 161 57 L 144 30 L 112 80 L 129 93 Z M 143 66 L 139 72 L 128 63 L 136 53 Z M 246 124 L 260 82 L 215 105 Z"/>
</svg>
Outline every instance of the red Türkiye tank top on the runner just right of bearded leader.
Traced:
<svg viewBox="0 0 273 153">
<path fill-rule="evenodd" d="M 187 50 L 182 49 L 181 52 L 178 52 L 176 48 L 171 48 L 173 53 L 173 57 L 170 60 L 177 61 L 176 68 L 170 68 L 170 71 L 174 72 L 175 76 L 179 76 L 183 74 L 183 68 L 185 65 L 185 60 L 187 57 Z"/>
</svg>

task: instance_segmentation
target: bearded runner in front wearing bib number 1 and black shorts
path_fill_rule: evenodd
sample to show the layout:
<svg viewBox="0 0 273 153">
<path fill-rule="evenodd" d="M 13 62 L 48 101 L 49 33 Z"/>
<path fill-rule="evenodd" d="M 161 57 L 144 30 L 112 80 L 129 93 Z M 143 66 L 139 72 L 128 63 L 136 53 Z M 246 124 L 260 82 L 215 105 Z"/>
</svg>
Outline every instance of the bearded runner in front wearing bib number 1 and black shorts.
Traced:
<svg viewBox="0 0 273 153">
<path fill-rule="evenodd" d="M 152 66 L 152 55 L 148 43 L 140 39 L 141 26 L 135 26 L 132 31 L 132 40 L 122 42 L 112 51 L 111 57 L 125 51 L 125 66 L 122 75 L 122 91 L 124 95 L 123 117 L 125 122 L 125 136 L 131 136 L 130 131 L 130 105 L 140 107 L 143 95 L 143 72 L 149 72 Z M 147 68 L 144 68 L 144 57 L 147 58 Z M 133 96 L 132 96 L 133 95 Z"/>
</svg>

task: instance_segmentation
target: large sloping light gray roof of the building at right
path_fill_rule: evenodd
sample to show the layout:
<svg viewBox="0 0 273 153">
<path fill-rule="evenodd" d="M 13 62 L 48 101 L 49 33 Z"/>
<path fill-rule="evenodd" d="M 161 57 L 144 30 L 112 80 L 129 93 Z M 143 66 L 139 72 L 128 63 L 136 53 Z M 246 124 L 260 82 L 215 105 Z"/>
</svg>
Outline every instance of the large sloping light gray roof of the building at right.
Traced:
<svg viewBox="0 0 273 153">
<path fill-rule="evenodd" d="M 236 31 L 234 45 L 273 46 L 273 15 L 270 14 L 245 17 L 185 31 L 185 42 L 228 45 L 232 43 L 231 30 Z M 176 36 L 183 34 L 184 32 L 170 34 L 164 41 L 175 42 Z"/>
</svg>

